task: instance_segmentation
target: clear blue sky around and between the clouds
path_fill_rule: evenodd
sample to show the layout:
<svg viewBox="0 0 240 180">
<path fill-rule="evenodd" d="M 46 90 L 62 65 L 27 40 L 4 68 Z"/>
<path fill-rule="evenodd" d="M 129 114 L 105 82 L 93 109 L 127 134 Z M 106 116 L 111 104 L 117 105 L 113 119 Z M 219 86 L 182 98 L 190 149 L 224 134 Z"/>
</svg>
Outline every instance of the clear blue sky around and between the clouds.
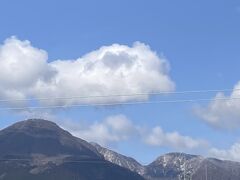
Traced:
<svg viewBox="0 0 240 180">
<path fill-rule="evenodd" d="M 47 51 L 48 63 L 57 59 L 77 59 L 102 46 L 117 43 L 132 47 L 134 42 L 140 41 L 159 57 L 167 59 L 171 67 L 168 76 L 175 83 L 175 91 L 231 89 L 240 80 L 240 2 L 236 0 L 3 0 L 0 3 L 0 23 L 1 45 L 11 36 L 21 41 L 29 40 L 33 47 Z M 169 98 L 215 96 L 216 92 Z M 1 98 L 5 99 L 4 96 Z M 215 154 L 211 155 L 228 158 L 224 153 L 231 152 L 231 146 L 239 141 L 238 123 L 234 129 L 224 129 L 209 123 L 209 118 L 202 120 L 204 117 L 196 115 L 194 107 L 200 104 L 207 108 L 208 103 L 80 107 L 48 114 L 54 116 L 53 119 L 62 119 L 65 124 L 65 121 L 101 123 L 108 117 L 121 114 L 134 124 L 134 128 L 140 126 L 141 131 L 161 126 L 166 134 L 178 132 L 181 136 L 209 143 L 208 147 L 184 148 L 181 151 L 209 155 L 207 149 L 214 148 Z M 224 105 L 221 107 L 226 109 Z M 204 112 L 208 114 L 207 109 Z M 231 119 L 234 123 L 240 119 L 230 111 L 222 112 L 226 112 L 230 124 Z M 216 115 L 217 112 L 212 113 Z M 0 117 L 0 127 L 3 128 L 26 118 L 26 115 L 0 111 Z M 139 140 L 141 138 L 135 135 L 106 146 L 143 163 L 151 162 L 162 153 L 179 151 L 169 142 L 152 146 Z M 235 156 L 229 158 L 240 159 Z"/>
</svg>

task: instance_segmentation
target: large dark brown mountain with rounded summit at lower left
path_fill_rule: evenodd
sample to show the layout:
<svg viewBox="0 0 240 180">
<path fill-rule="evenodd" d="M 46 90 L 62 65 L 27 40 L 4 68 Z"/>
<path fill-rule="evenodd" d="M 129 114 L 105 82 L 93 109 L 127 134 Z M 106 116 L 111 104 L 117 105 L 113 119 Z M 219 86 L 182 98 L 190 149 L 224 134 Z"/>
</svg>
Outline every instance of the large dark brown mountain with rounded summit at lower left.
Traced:
<svg viewBox="0 0 240 180">
<path fill-rule="evenodd" d="M 106 161 L 55 123 L 31 119 L 0 131 L 1 180 L 143 180 Z"/>
</svg>

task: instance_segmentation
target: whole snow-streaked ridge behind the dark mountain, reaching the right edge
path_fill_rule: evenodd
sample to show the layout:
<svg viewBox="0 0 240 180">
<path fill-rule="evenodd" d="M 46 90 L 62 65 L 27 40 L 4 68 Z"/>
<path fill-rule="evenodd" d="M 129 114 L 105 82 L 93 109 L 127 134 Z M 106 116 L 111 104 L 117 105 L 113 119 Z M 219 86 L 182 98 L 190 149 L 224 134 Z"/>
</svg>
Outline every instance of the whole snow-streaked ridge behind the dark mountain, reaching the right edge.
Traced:
<svg viewBox="0 0 240 180">
<path fill-rule="evenodd" d="M 185 153 L 168 153 L 143 166 L 136 160 L 94 144 L 104 158 L 147 180 L 239 180 L 240 163 Z"/>
</svg>

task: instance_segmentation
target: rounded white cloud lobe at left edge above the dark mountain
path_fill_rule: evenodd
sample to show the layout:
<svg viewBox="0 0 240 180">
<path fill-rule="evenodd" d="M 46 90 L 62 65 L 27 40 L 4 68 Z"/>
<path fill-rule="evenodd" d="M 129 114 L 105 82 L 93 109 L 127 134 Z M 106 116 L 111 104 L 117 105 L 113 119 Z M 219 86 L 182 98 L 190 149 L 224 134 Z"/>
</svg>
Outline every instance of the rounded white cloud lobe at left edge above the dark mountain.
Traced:
<svg viewBox="0 0 240 180">
<path fill-rule="evenodd" d="M 31 96 L 31 88 L 52 77 L 54 70 L 47 64 L 47 53 L 31 46 L 29 41 L 15 37 L 0 46 L 0 97 L 23 99 Z"/>
</svg>

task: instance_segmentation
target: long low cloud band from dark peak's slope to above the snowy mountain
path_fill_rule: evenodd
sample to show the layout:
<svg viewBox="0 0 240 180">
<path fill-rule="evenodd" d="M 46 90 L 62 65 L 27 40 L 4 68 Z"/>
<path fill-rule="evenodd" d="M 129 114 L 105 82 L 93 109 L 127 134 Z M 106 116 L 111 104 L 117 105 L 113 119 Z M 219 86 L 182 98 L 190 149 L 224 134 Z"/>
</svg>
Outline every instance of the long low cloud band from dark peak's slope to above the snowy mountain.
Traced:
<svg viewBox="0 0 240 180">
<path fill-rule="evenodd" d="M 58 123 L 73 135 L 101 145 L 133 140 L 134 138 L 150 146 L 169 147 L 175 150 L 191 150 L 208 145 L 204 140 L 183 136 L 178 132 L 164 132 L 160 126 L 146 129 L 133 123 L 124 115 L 110 116 L 103 121 L 96 121 L 92 124 L 70 120 Z"/>
</svg>

